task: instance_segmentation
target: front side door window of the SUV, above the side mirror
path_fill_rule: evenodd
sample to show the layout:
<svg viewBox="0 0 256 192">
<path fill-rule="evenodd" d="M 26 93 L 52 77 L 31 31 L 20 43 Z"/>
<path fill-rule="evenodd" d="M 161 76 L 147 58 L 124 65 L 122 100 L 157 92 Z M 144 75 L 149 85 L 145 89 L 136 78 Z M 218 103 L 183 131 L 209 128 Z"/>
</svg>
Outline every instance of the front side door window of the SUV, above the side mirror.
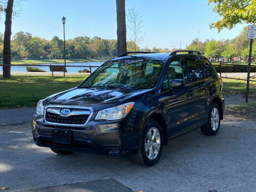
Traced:
<svg viewBox="0 0 256 192">
<path fill-rule="evenodd" d="M 167 68 L 163 82 L 163 89 L 168 89 L 173 79 L 184 79 L 183 66 L 181 60 L 172 61 Z M 185 82 L 186 83 L 186 82 Z"/>
</svg>

